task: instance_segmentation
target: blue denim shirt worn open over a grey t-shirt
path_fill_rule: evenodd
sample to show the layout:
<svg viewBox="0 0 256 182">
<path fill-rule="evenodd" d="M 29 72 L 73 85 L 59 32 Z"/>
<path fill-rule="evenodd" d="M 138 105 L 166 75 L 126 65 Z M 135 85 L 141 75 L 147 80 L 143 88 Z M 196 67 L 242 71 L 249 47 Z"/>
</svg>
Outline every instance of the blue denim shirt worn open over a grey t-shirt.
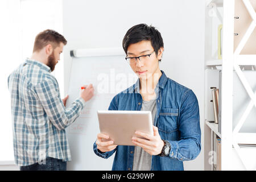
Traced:
<svg viewBox="0 0 256 182">
<path fill-rule="evenodd" d="M 201 130 L 199 105 L 191 89 L 168 78 L 163 71 L 155 88 L 156 116 L 154 125 L 158 127 L 161 139 L 171 144 L 169 156 L 152 156 L 151 170 L 184 170 L 183 161 L 195 159 L 201 151 Z M 139 93 L 139 79 L 130 88 L 118 93 L 109 110 L 141 110 L 142 96 Z M 109 158 L 115 152 L 112 170 L 132 170 L 134 146 L 117 146 L 109 152 L 97 150 L 101 158 Z"/>
</svg>

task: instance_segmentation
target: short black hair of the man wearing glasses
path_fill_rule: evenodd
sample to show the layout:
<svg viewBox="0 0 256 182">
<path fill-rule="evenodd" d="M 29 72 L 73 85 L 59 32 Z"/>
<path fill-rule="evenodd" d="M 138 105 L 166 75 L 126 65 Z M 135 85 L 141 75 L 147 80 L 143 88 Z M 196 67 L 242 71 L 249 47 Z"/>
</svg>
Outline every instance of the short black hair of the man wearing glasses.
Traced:
<svg viewBox="0 0 256 182">
<path fill-rule="evenodd" d="M 147 24 L 137 24 L 131 27 L 123 38 L 123 50 L 127 55 L 127 48 L 130 44 L 141 42 L 142 40 L 150 40 L 152 47 L 155 50 L 156 56 L 161 47 L 164 46 L 163 38 L 158 30 L 153 26 Z M 161 60 L 159 60 L 161 61 Z"/>
</svg>

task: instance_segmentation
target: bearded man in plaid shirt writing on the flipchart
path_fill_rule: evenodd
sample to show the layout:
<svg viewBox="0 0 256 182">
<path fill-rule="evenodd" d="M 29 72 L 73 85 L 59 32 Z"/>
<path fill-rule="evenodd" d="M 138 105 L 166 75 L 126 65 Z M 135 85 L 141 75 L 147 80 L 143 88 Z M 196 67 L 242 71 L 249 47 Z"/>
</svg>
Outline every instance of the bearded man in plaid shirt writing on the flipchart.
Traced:
<svg viewBox="0 0 256 182">
<path fill-rule="evenodd" d="M 67 40 L 58 32 L 40 32 L 30 59 L 8 78 L 14 134 L 15 163 L 20 170 L 66 170 L 71 160 L 65 128 L 79 117 L 93 97 L 92 84 L 65 108 L 59 85 L 51 72 Z"/>
</svg>

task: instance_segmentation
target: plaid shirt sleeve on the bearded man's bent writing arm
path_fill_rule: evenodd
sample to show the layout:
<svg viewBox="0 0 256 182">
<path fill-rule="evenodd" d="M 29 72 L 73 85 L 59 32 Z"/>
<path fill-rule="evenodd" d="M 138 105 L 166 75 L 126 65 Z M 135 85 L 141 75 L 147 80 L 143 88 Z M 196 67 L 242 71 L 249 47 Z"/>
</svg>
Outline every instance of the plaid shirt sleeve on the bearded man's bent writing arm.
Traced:
<svg viewBox="0 0 256 182">
<path fill-rule="evenodd" d="M 59 87 L 54 80 L 47 79 L 40 82 L 34 86 L 34 91 L 39 97 L 47 117 L 58 130 L 63 130 L 73 123 L 85 106 L 85 101 L 80 97 L 65 109 L 60 98 Z"/>
</svg>

